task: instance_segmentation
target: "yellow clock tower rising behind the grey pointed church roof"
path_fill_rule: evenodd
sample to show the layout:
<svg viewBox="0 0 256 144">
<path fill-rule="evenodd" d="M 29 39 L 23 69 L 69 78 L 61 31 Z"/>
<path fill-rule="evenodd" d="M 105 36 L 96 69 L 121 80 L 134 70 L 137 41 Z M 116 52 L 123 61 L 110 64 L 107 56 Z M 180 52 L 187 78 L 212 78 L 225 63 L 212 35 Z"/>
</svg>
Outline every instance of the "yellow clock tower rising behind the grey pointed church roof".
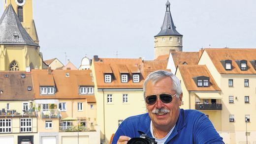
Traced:
<svg viewBox="0 0 256 144">
<path fill-rule="evenodd" d="M 12 5 L 24 29 L 26 29 L 34 42 L 39 44 L 33 20 L 32 0 L 3 0 L 4 9 L 6 9 L 9 4 Z"/>
</svg>

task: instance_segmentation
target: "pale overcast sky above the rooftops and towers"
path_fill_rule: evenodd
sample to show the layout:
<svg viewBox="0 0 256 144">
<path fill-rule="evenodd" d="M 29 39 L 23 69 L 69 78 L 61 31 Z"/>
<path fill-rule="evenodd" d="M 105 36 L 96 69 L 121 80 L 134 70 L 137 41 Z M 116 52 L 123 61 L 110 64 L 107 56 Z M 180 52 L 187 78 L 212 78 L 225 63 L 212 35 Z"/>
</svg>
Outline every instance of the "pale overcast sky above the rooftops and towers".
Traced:
<svg viewBox="0 0 256 144">
<path fill-rule="evenodd" d="M 65 52 L 77 67 L 92 58 L 154 59 L 166 0 L 33 0 L 44 60 Z M 183 51 L 256 48 L 256 0 L 170 0 Z M 3 13 L 3 0 L 0 2 Z"/>
</svg>

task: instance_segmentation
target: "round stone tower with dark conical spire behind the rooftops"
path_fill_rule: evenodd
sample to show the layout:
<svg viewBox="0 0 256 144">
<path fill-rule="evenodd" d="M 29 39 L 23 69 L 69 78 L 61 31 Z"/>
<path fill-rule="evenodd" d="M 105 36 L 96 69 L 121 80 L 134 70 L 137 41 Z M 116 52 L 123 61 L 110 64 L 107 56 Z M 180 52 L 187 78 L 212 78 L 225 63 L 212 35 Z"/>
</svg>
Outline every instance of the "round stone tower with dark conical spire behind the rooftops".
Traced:
<svg viewBox="0 0 256 144">
<path fill-rule="evenodd" d="M 170 2 L 166 2 L 166 12 L 160 32 L 155 36 L 155 59 L 161 55 L 169 55 L 170 50 L 182 51 L 182 37 L 174 26 Z"/>
</svg>

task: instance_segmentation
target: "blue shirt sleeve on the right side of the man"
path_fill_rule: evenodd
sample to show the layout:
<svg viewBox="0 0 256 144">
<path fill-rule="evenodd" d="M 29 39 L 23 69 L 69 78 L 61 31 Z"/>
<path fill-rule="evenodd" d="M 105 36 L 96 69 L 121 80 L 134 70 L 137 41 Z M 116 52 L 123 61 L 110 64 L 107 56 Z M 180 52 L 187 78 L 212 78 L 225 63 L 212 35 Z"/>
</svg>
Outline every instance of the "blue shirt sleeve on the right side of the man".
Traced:
<svg viewBox="0 0 256 144">
<path fill-rule="evenodd" d="M 197 118 L 194 126 L 195 144 L 224 144 L 209 118 L 202 114 Z"/>
</svg>

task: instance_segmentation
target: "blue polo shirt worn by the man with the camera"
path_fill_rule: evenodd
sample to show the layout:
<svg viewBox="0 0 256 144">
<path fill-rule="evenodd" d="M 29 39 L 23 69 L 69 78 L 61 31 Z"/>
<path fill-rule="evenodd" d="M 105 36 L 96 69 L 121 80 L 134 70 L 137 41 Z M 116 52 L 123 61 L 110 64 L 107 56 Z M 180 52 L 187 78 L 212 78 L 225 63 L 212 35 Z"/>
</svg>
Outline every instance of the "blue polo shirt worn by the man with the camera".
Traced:
<svg viewBox="0 0 256 144">
<path fill-rule="evenodd" d="M 148 113 L 128 117 L 119 126 L 112 144 L 117 144 L 120 136 L 134 138 L 147 134 L 152 138 L 150 120 Z M 222 140 L 206 115 L 180 109 L 176 126 L 164 144 L 224 144 Z"/>
</svg>

